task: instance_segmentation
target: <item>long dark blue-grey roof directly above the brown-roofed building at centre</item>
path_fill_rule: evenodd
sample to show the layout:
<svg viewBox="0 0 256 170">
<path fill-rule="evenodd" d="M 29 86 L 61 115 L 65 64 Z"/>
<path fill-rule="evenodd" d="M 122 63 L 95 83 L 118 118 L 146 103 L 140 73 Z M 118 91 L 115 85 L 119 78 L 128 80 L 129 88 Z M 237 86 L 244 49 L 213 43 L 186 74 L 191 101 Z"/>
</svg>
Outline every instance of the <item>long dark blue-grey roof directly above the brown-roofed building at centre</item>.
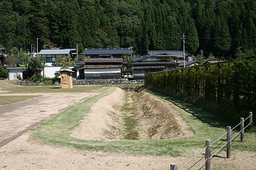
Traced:
<svg viewBox="0 0 256 170">
<path fill-rule="evenodd" d="M 83 55 L 103 55 L 132 53 L 131 48 L 85 48 Z"/>
</svg>

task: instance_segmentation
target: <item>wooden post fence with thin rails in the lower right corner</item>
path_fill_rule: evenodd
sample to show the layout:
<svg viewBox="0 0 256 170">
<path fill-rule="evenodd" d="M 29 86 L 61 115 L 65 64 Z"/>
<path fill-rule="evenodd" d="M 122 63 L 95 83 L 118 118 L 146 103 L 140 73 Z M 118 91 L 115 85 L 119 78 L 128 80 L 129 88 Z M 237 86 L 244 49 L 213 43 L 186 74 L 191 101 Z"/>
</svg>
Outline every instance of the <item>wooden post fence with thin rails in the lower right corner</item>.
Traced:
<svg viewBox="0 0 256 170">
<path fill-rule="evenodd" d="M 249 120 L 249 124 L 244 127 L 244 122 L 246 120 Z M 240 126 L 239 132 L 234 132 L 234 129 Z M 226 157 L 227 159 L 231 158 L 231 143 L 234 139 L 237 138 L 240 134 L 240 140 L 244 140 L 244 129 L 250 128 L 253 126 L 253 113 L 249 113 L 249 117 L 247 118 L 240 118 L 240 123 L 237 124 L 235 127 L 231 129 L 230 126 L 227 126 L 227 132 L 225 134 L 221 135 L 220 138 L 216 139 L 211 143 L 210 139 L 205 140 L 205 148 L 200 150 L 200 152 L 197 152 L 194 157 L 189 159 L 187 162 L 185 162 L 182 166 L 178 168 L 177 164 L 172 163 L 170 166 L 171 170 L 181 170 L 181 169 L 202 169 L 205 167 L 205 170 L 211 170 L 211 160 L 216 157 L 225 147 L 226 147 Z M 233 134 L 232 134 L 233 132 Z M 231 138 L 231 136 L 234 136 Z M 221 141 L 221 139 L 226 136 L 225 141 Z M 221 141 L 216 147 L 212 149 L 212 146 L 216 144 L 218 141 Z M 225 142 L 225 143 L 224 143 Z M 204 156 L 202 156 L 202 152 Z M 193 162 L 193 164 L 192 164 Z M 191 165 L 192 164 L 192 165 Z"/>
</svg>

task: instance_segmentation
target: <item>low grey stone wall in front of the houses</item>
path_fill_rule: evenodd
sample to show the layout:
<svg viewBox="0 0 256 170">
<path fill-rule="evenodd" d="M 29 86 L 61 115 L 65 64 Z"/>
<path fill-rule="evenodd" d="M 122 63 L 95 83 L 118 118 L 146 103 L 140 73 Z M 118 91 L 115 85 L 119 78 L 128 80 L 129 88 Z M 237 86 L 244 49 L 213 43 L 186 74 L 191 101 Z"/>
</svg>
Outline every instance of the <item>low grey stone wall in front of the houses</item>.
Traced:
<svg viewBox="0 0 256 170">
<path fill-rule="evenodd" d="M 128 79 L 102 79 L 102 80 L 73 80 L 73 85 L 118 85 L 118 84 L 143 84 L 145 80 L 128 80 Z M 45 85 L 45 82 L 33 82 L 27 80 L 18 81 L 19 85 L 24 86 L 40 86 Z M 49 85 L 49 84 L 47 84 Z M 60 85 L 59 82 L 54 85 Z"/>
</svg>

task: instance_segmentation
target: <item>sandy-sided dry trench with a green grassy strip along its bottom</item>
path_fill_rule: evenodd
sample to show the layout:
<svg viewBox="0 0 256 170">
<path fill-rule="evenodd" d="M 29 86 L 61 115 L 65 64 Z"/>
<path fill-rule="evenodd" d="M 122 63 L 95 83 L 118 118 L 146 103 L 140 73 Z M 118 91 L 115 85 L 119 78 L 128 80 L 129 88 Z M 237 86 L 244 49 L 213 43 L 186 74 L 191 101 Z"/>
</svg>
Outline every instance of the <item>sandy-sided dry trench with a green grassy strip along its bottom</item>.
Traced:
<svg viewBox="0 0 256 170">
<path fill-rule="evenodd" d="M 72 134 L 86 140 L 156 140 L 191 135 L 168 102 L 133 88 L 117 88 L 94 103 Z"/>
</svg>

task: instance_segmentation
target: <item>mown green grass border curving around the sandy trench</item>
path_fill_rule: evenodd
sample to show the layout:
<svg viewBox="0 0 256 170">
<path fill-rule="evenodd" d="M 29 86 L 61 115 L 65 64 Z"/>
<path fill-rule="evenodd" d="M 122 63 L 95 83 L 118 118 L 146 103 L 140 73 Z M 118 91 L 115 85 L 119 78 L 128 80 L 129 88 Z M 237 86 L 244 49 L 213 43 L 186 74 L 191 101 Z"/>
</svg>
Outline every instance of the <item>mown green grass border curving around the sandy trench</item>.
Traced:
<svg viewBox="0 0 256 170">
<path fill-rule="evenodd" d="M 33 129 L 33 138 L 53 145 L 72 146 L 79 150 L 177 157 L 188 153 L 191 149 L 204 148 L 205 139 L 214 141 L 221 134 L 225 133 L 225 122 L 220 122 L 216 117 L 212 115 L 205 117 L 205 113 L 202 110 L 197 110 L 196 113 L 188 112 L 182 109 L 181 106 L 170 103 L 175 110 L 179 111 L 189 127 L 191 127 L 191 130 L 194 132 L 193 137 L 156 141 L 84 141 L 70 136 L 72 130 L 79 125 L 81 118 L 88 113 L 92 104 L 100 99 L 100 97 L 113 92 L 114 89 L 114 87 L 109 87 L 101 94 L 90 97 L 82 103 L 62 111 L 56 117 Z M 186 110 L 193 110 L 193 108 L 186 108 Z M 255 133 L 246 133 L 244 142 L 239 142 L 237 138 L 233 141 L 232 147 L 239 150 L 256 152 L 255 138 Z"/>
</svg>

